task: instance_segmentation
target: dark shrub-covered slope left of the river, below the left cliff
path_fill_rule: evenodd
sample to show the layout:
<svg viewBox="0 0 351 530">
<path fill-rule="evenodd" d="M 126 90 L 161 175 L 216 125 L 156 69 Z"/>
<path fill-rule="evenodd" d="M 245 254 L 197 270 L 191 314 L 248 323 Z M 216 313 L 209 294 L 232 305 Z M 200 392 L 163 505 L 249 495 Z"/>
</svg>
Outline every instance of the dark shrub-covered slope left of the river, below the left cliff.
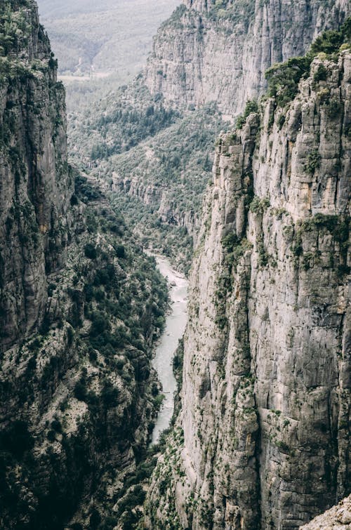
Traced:
<svg viewBox="0 0 351 530">
<path fill-rule="evenodd" d="M 0 432 L 0 511 L 7 527 L 14 519 L 26 519 L 23 529 L 60 530 L 88 494 L 94 499 L 89 516 L 94 527 L 112 529 L 117 519 L 111 506 L 125 492 L 117 488 L 111 503 L 105 500 L 105 484 L 120 471 L 119 451 L 135 451 L 136 460 L 141 458 L 145 443 L 135 440 L 135 423 L 151 429 L 160 399 L 150 360 L 152 343 L 164 325 L 166 282 L 119 211 L 91 180 L 75 177 L 72 208 L 84 212 L 86 230 L 69 247 L 65 270 L 56 272 L 48 286 L 60 312 L 46 314 L 40 334 L 18 350 L 11 366 L 22 363 L 25 369 L 0 383 L 1 400 L 16 396 L 14 409 L 23 412 L 23 419 Z M 74 373 L 68 384 L 67 370 L 69 378 Z M 37 416 L 27 414 L 27 404 L 38 395 L 50 403 L 58 382 L 65 387 L 65 399 L 38 430 L 32 424 Z M 76 417 L 77 425 L 70 423 L 79 408 L 86 413 Z M 44 478 L 38 471 L 43 468 Z M 140 470 L 138 479 L 148 473 L 148 468 Z M 135 517 L 133 503 L 142 501 L 138 486 L 128 493 L 124 528 Z"/>
</svg>

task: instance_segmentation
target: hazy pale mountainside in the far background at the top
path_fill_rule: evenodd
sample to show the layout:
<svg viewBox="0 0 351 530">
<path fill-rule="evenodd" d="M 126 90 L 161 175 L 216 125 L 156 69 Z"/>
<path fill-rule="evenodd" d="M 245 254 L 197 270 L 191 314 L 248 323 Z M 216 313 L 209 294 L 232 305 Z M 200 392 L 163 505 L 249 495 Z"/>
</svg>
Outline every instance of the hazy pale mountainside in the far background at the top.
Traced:
<svg viewBox="0 0 351 530">
<path fill-rule="evenodd" d="M 145 63 L 157 27 L 179 0 L 39 0 L 39 13 L 67 74 L 133 75 Z"/>
</svg>

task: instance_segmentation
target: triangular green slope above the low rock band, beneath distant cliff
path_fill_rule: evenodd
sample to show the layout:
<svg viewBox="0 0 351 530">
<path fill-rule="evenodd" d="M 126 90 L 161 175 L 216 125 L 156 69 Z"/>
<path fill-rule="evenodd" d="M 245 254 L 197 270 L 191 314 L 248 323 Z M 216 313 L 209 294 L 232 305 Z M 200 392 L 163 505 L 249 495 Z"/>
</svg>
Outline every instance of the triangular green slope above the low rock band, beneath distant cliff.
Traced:
<svg viewBox="0 0 351 530">
<path fill-rule="evenodd" d="M 206 105 L 153 135 L 130 154 L 112 158 L 106 169 L 115 171 L 121 179 L 129 175 L 138 177 L 145 186 L 152 183 L 160 189 L 166 187 L 170 204 L 176 202 L 180 211 L 199 211 L 211 176 L 213 137 L 220 126 L 223 122 L 218 109 Z"/>
</svg>

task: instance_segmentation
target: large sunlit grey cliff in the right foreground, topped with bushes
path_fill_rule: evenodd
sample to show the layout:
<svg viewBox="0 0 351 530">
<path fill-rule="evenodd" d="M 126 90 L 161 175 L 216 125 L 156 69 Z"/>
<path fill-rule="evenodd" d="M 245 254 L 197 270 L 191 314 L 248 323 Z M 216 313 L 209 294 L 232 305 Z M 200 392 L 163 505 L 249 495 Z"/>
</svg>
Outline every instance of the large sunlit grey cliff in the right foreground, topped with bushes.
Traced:
<svg viewBox="0 0 351 530">
<path fill-rule="evenodd" d="M 350 82 L 315 59 L 218 141 L 150 528 L 296 529 L 348 493 Z"/>
</svg>

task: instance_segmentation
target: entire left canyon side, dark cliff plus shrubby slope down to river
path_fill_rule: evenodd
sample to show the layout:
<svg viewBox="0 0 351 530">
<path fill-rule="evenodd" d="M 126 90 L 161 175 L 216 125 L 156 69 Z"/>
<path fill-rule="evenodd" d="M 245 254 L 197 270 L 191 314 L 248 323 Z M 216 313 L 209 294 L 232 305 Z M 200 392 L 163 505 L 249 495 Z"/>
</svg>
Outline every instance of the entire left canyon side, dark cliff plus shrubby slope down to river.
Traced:
<svg viewBox="0 0 351 530">
<path fill-rule="evenodd" d="M 0 32 L 0 528 L 112 530 L 149 442 L 166 282 L 69 166 L 36 2 L 0 2 Z"/>
</svg>

